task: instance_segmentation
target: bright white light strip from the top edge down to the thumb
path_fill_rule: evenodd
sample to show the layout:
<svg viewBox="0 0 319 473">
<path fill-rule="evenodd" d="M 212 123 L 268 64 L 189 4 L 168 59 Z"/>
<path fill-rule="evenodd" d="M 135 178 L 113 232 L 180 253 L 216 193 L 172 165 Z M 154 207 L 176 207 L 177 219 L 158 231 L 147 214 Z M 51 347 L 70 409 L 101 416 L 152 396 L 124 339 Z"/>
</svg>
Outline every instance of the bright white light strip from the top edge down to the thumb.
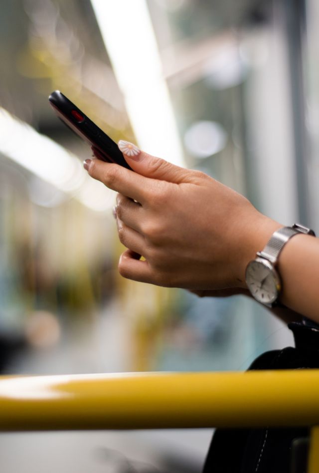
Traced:
<svg viewBox="0 0 319 473">
<path fill-rule="evenodd" d="M 91 0 L 139 146 L 184 165 L 145 0 Z"/>
</svg>

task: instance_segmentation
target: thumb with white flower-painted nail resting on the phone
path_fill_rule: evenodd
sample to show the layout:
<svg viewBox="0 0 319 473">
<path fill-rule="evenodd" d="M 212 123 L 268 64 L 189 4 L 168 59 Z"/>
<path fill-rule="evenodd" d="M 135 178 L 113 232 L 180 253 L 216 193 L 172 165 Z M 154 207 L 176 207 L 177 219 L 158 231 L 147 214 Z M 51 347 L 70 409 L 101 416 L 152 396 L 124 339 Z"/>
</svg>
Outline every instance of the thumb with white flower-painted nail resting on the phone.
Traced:
<svg viewBox="0 0 319 473">
<path fill-rule="evenodd" d="M 177 184 L 183 182 L 187 176 L 186 169 L 145 153 L 129 141 L 120 140 L 118 146 L 133 171 L 142 176 Z"/>
</svg>

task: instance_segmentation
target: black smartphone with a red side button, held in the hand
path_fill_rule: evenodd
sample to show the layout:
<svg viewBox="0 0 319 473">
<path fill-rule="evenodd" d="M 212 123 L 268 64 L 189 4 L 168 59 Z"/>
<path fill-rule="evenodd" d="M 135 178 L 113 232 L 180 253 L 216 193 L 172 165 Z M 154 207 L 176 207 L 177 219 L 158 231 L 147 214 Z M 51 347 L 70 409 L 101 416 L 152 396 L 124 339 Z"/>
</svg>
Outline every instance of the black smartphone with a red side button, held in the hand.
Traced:
<svg viewBox="0 0 319 473">
<path fill-rule="evenodd" d="M 118 145 L 62 92 L 59 90 L 52 92 L 49 102 L 56 115 L 91 146 L 97 158 L 132 169 L 125 161 Z"/>
</svg>

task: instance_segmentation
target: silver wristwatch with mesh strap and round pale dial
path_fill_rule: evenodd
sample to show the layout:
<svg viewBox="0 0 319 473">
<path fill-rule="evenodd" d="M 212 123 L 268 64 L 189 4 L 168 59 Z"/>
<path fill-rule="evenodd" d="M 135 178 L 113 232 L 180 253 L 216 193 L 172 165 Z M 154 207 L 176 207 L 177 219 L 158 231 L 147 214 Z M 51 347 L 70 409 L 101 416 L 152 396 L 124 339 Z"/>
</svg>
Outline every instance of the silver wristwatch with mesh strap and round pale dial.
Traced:
<svg viewBox="0 0 319 473">
<path fill-rule="evenodd" d="M 313 235 L 315 232 L 295 224 L 292 227 L 283 227 L 271 236 L 262 251 L 258 251 L 256 258 L 250 261 L 246 268 L 246 284 L 253 297 L 268 307 L 278 305 L 278 298 L 282 283 L 276 265 L 278 256 L 290 238 L 298 234 Z"/>
</svg>

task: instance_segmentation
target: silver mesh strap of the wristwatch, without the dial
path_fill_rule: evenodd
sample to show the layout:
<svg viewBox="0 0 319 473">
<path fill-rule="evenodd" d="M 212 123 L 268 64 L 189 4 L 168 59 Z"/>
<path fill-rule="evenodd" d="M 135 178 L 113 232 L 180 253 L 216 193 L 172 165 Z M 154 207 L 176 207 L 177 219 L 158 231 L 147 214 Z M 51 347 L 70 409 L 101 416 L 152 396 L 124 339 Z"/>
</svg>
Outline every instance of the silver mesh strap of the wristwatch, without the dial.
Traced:
<svg viewBox="0 0 319 473">
<path fill-rule="evenodd" d="M 268 259 L 268 261 L 270 261 L 272 264 L 275 264 L 279 253 L 287 241 L 292 236 L 298 235 L 300 233 L 315 236 L 315 232 L 313 230 L 310 230 L 303 225 L 294 224 L 292 227 L 282 227 L 273 233 L 265 248 L 262 251 L 259 251 L 257 255 Z"/>
</svg>

